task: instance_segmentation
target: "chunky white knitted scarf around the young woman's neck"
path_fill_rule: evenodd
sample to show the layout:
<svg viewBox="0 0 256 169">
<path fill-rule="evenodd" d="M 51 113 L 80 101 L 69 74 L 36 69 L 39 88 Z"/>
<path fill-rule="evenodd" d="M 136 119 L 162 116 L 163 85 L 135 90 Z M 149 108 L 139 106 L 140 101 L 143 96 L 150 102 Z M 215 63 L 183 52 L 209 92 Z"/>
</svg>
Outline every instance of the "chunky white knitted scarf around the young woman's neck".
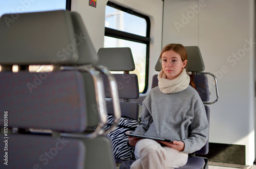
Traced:
<svg viewBox="0 0 256 169">
<path fill-rule="evenodd" d="M 183 68 L 181 74 L 173 80 L 166 79 L 166 74 L 163 70 L 160 71 L 157 78 L 159 89 L 163 93 L 177 93 L 185 90 L 190 82 L 190 77 L 187 75 L 185 68 Z"/>
</svg>

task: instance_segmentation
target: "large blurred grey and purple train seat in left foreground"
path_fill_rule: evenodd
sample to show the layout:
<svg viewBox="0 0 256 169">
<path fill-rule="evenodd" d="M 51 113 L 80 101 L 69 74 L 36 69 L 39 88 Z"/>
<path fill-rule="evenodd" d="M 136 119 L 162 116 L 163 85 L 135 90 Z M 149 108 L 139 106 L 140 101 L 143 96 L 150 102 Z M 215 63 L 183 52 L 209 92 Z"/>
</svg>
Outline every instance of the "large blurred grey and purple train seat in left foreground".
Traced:
<svg viewBox="0 0 256 169">
<path fill-rule="evenodd" d="M 98 56 L 79 14 L 18 16 L 8 25 L 12 14 L 0 18 L 0 145 L 6 147 L 0 150 L 6 159 L 0 168 L 115 168 L 110 139 L 102 135 L 107 115 L 98 69 L 103 68 L 91 67 Z M 30 65 L 54 68 L 37 72 Z M 109 81 L 115 90 L 115 80 Z"/>
</svg>

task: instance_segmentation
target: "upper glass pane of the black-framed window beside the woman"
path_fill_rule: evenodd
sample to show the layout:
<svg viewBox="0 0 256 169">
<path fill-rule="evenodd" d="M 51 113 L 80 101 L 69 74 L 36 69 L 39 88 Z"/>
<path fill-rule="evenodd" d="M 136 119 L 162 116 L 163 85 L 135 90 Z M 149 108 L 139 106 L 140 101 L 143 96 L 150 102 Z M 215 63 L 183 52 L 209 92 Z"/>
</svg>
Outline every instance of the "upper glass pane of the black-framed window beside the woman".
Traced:
<svg viewBox="0 0 256 169">
<path fill-rule="evenodd" d="M 144 18 L 106 6 L 105 27 L 118 31 L 146 36 L 146 20 Z"/>
</svg>

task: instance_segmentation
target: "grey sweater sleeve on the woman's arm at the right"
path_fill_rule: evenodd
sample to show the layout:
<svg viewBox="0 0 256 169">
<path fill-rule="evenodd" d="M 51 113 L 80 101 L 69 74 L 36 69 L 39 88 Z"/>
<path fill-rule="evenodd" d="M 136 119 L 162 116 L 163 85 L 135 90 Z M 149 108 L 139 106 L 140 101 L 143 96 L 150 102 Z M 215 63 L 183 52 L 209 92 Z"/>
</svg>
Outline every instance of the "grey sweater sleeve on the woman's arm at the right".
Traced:
<svg viewBox="0 0 256 169">
<path fill-rule="evenodd" d="M 200 150 L 208 140 L 208 120 L 203 103 L 195 103 L 194 117 L 191 119 L 190 134 L 182 140 L 185 143 L 184 153 L 194 153 Z"/>
</svg>

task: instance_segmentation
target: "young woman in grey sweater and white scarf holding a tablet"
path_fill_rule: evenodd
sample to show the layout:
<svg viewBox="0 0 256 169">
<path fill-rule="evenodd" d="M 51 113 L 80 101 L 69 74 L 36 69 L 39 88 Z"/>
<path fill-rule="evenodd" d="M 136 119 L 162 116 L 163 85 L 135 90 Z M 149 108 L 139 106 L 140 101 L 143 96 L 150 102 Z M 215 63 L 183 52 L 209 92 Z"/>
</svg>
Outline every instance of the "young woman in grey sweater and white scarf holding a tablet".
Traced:
<svg viewBox="0 0 256 169">
<path fill-rule="evenodd" d="M 187 53 L 181 44 L 166 45 L 161 54 L 158 87 L 142 104 L 141 124 L 134 133 L 174 140 L 173 143 L 129 137 L 136 161 L 131 168 L 175 168 L 208 139 L 208 122 L 198 92 L 189 85 Z"/>
</svg>

